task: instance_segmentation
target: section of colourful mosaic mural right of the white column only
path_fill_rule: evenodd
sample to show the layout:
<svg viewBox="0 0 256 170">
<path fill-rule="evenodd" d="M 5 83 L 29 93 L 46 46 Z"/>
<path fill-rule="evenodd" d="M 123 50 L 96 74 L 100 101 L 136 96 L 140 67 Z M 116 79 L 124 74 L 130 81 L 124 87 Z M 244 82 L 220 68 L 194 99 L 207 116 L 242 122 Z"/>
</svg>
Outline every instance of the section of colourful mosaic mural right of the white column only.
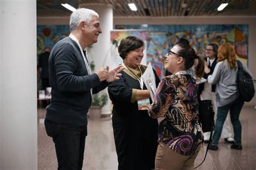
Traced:
<svg viewBox="0 0 256 170">
<path fill-rule="evenodd" d="M 147 62 L 164 76 L 164 55 L 179 38 L 186 38 L 198 55 L 208 43 L 231 43 L 239 60 L 247 65 L 248 25 L 116 25 L 116 29 L 147 30 Z"/>
</svg>

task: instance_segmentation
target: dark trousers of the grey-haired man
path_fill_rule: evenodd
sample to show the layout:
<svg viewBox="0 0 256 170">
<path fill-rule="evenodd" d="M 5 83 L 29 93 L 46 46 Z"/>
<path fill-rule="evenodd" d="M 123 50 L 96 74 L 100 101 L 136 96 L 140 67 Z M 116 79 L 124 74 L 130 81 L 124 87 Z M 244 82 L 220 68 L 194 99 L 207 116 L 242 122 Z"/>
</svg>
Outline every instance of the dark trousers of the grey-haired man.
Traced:
<svg viewBox="0 0 256 170">
<path fill-rule="evenodd" d="M 44 120 L 46 133 L 55 143 L 58 169 L 82 169 L 87 126 Z"/>
</svg>

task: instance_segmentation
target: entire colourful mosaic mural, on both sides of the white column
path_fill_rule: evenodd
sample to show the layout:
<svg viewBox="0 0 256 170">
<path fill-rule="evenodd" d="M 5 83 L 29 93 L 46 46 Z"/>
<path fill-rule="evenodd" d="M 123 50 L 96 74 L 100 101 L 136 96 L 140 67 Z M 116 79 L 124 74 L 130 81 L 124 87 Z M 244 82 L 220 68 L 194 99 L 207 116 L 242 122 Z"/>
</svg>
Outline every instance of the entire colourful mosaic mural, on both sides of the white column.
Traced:
<svg viewBox="0 0 256 170">
<path fill-rule="evenodd" d="M 147 62 L 151 62 L 158 76 L 164 76 L 164 55 L 179 38 L 186 38 L 199 55 L 204 55 L 208 43 L 231 43 L 239 60 L 247 65 L 248 59 L 248 25 L 116 25 L 120 30 L 111 35 L 112 43 L 116 45 L 126 36 L 137 36 L 146 39 Z M 146 31 L 135 31 L 146 30 Z M 69 36 L 69 25 L 38 25 L 37 54 L 45 46 L 52 47 L 58 40 Z M 117 42 L 115 42 L 117 41 Z"/>
</svg>

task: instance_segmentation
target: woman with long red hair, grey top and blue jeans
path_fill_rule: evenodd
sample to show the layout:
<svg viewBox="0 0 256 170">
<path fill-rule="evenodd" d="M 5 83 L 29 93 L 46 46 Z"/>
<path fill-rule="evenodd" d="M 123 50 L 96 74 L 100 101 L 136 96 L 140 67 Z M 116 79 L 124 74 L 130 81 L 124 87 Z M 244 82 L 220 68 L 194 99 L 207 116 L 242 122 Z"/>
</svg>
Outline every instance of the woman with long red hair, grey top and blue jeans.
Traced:
<svg viewBox="0 0 256 170">
<path fill-rule="evenodd" d="M 242 64 L 242 69 L 252 76 L 252 73 L 244 64 Z M 209 147 L 211 150 L 218 149 L 218 142 L 228 111 L 230 111 L 230 118 L 234 131 L 234 143 L 231 145 L 231 148 L 242 149 L 242 127 L 239 120 L 239 114 L 244 105 L 244 101 L 240 101 L 238 98 L 238 88 L 236 83 L 237 71 L 235 52 L 233 46 L 228 43 L 220 45 L 218 49 L 217 64 L 213 73 L 211 74 L 211 70 L 208 67 L 205 67 L 208 83 L 216 84 L 216 104 L 218 107 L 217 120 L 212 142 Z"/>
</svg>

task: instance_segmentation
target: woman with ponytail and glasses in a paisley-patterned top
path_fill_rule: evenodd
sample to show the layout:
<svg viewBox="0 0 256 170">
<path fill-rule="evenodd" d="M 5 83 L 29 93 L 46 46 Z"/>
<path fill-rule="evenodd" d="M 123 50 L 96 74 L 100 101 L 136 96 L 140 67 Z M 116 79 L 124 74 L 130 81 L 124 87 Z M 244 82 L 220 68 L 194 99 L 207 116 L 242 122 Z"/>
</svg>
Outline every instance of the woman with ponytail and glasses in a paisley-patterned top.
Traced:
<svg viewBox="0 0 256 170">
<path fill-rule="evenodd" d="M 177 44 L 165 55 L 167 70 L 172 72 L 158 85 L 150 117 L 164 116 L 158 127 L 156 169 L 193 169 L 203 145 L 198 121 L 196 81 L 186 72 L 198 59 L 197 77 L 204 75 L 204 59 L 188 44 Z"/>
</svg>

